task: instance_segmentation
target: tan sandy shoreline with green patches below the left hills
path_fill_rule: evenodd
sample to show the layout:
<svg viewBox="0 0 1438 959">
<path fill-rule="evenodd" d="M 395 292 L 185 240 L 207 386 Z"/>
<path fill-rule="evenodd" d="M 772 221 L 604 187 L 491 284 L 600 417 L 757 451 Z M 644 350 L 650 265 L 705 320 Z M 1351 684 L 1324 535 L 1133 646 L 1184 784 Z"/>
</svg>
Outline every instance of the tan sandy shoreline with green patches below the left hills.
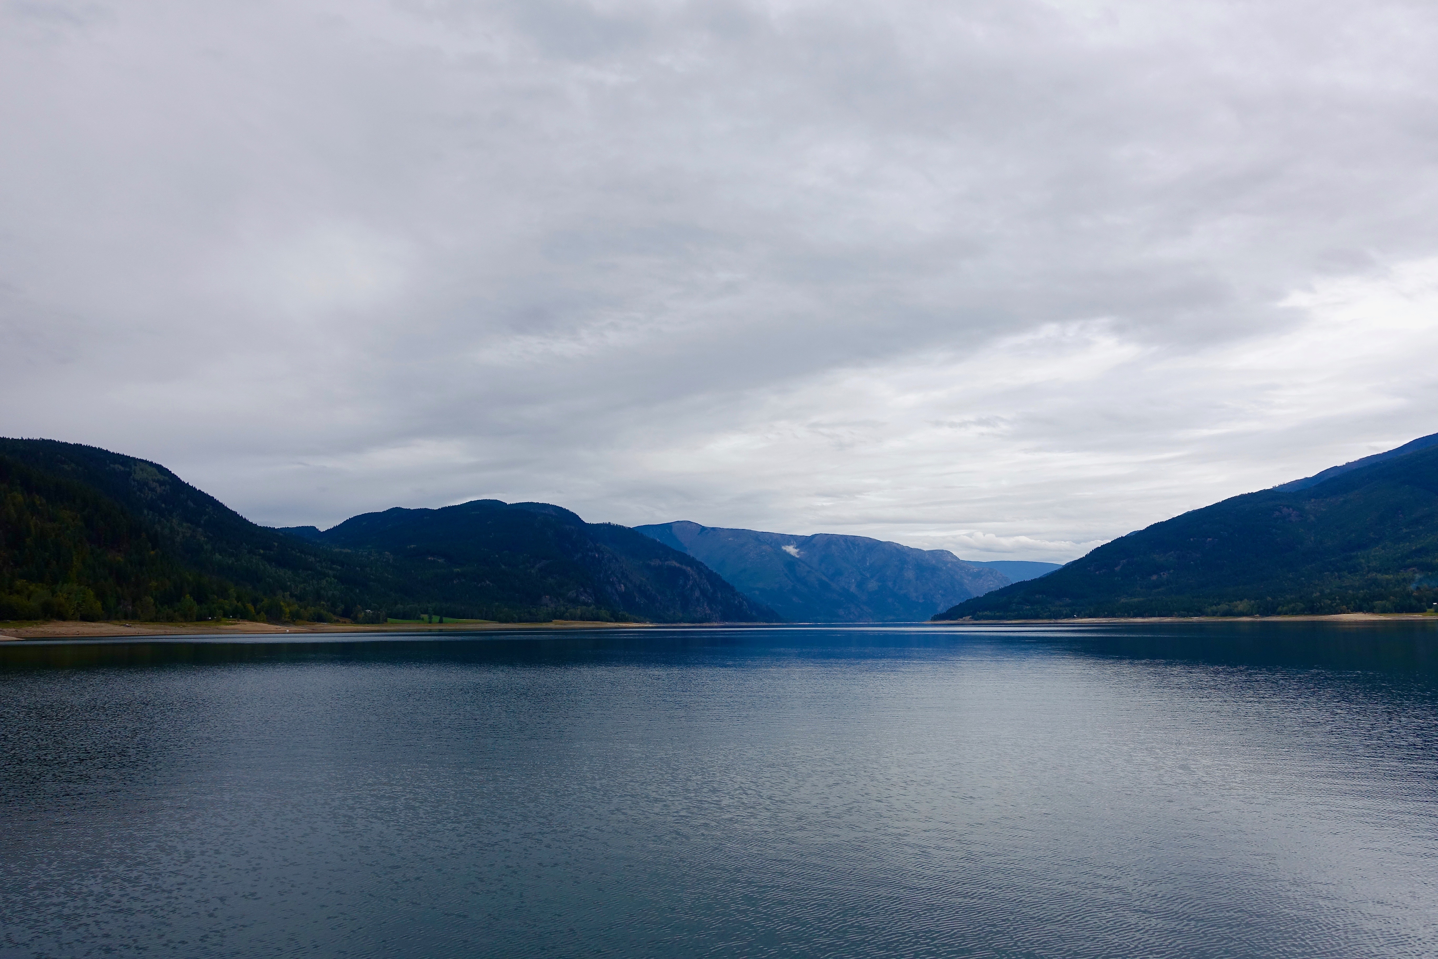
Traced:
<svg viewBox="0 0 1438 959">
<path fill-rule="evenodd" d="M 272 623 L 219 621 L 219 623 L 16 623 L 0 624 L 0 640 L 85 640 L 112 638 L 119 635 L 266 635 L 303 633 L 454 633 L 485 630 L 567 630 L 567 628 L 614 628 L 650 625 L 649 623 L 584 623 L 578 620 L 555 620 L 552 623 Z"/>
</svg>

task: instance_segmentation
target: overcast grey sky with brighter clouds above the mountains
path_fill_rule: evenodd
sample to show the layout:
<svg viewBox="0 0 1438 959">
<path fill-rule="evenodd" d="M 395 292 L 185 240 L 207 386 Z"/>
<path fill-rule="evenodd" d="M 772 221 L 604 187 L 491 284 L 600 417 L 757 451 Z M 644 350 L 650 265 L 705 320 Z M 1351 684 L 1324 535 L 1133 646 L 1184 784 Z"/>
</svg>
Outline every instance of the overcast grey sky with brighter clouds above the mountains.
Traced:
<svg viewBox="0 0 1438 959">
<path fill-rule="evenodd" d="M 6 0 L 0 433 L 1067 561 L 1438 431 L 1438 6 Z"/>
</svg>

